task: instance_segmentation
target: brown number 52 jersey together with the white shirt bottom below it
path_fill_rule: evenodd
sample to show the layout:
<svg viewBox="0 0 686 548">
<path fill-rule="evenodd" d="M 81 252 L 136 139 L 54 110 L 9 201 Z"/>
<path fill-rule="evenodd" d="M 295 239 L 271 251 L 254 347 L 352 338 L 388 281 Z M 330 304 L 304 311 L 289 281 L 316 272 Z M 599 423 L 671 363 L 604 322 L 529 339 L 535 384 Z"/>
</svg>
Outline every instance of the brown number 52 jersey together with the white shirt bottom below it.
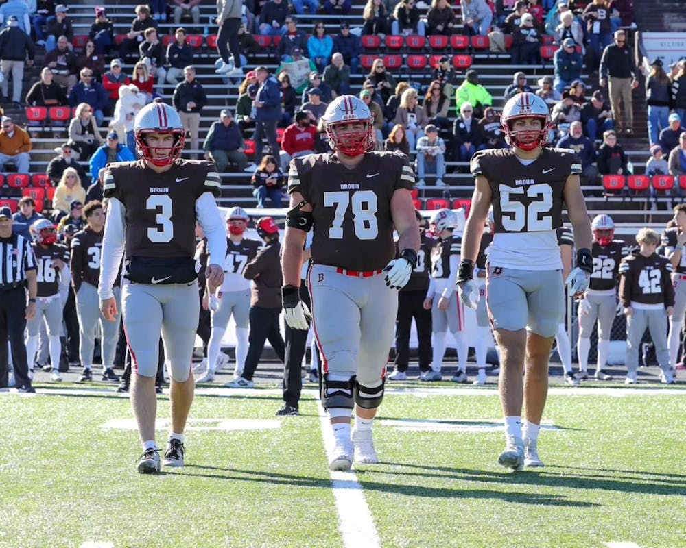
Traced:
<svg viewBox="0 0 686 548">
<path fill-rule="evenodd" d="M 493 192 L 492 266 L 519 270 L 562 268 L 556 229 L 563 224 L 565 184 L 581 173 L 581 160 L 567 149 L 541 150 L 520 160 L 512 149 L 477 152 L 471 172 L 484 176 Z"/>
</svg>

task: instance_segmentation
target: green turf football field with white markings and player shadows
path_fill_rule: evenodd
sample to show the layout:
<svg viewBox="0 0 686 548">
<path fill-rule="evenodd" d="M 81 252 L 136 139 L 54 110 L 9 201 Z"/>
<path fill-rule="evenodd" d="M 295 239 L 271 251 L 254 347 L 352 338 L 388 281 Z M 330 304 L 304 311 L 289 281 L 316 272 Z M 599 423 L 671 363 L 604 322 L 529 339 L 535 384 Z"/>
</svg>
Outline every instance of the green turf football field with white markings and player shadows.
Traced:
<svg viewBox="0 0 686 548">
<path fill-rule="evenodd" d="M 508 473 L 497 392 L 392 384 L 381 464 L 327 469 L 314 389 L 198 388 L 186 466 L 139 475 L 128 397 L 2 393 L 0 547 L 686 546 L 686 388 L 553 386 L 543 469 Z M 169 399 L 158 407 L 158 443 Z"/>
</svg>

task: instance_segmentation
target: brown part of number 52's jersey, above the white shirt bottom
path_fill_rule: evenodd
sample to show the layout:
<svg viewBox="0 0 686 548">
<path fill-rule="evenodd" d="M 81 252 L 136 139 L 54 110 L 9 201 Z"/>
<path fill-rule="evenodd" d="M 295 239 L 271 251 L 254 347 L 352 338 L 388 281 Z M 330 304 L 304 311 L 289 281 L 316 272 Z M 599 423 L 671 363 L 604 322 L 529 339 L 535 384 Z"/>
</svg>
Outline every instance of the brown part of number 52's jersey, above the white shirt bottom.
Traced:
<svg viewBox="0 0 686 548">
<path fill-rule="evenodd" d="M 471 159 L 475 177 L 493 192 L 495 232 L 541 232 L 562 226 L 565 183 L 581 173 L 581 160 L 568 149 L 541 149 L 524 165 L 513 149 L 479 151 Z"/>
</svg>

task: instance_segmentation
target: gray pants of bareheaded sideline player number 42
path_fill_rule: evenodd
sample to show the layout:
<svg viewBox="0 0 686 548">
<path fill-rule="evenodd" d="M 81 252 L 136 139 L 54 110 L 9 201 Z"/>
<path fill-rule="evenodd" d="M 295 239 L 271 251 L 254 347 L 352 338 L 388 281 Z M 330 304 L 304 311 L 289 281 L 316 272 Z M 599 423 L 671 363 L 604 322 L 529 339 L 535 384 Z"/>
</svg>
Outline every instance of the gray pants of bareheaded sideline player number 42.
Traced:
<svg viewBox="0 0 686 548">
<path fill-rule="evenodd" d="M 635 373 L 639 368 L 639 350 L 646 327 L 655 345 L 660 369 L 669 371 L 670 353 L 667 350 L 667 310 L 634 308 L 634 315 L 626 318 L 626 371 Z"/>
</svg>

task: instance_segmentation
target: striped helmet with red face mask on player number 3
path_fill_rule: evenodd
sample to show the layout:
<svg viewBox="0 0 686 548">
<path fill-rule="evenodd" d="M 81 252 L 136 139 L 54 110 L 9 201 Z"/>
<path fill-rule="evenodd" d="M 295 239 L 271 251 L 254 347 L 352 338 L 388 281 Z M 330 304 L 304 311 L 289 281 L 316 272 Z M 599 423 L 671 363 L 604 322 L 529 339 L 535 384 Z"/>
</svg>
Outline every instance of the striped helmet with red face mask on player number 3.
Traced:
<svg viewBox="0 0 686 548">
<path fill-rule="evenodd" d="M 133 124 L 138 153 L 151 164 L 168 166 L 180 158 L 186 141 L 186 128 L 174 107 L 167 103 L 150 103 L 145 105 Z M 174 136 L 173 145 L 167 147 L 149 147 L 145 135 L 151 133 L 170 133 Z"/>
</svg>

